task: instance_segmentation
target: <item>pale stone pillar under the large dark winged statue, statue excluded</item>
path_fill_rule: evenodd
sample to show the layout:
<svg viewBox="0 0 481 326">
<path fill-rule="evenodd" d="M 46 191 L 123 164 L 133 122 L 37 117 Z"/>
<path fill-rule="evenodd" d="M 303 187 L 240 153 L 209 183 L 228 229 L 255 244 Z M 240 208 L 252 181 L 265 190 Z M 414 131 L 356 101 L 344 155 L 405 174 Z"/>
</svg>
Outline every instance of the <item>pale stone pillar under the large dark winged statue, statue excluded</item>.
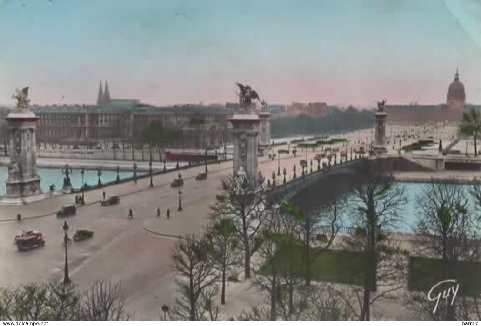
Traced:
<svg viewBox="0 0 481 326">
<path fill-rule="evenodd" d="M 233 126 L 233 174 L 236 174 L 242 167 L 248 176 L 255 177 L 257 175 L 259 116 L 257 114 L 234 114 L 229 121 Z"/>
</svg>

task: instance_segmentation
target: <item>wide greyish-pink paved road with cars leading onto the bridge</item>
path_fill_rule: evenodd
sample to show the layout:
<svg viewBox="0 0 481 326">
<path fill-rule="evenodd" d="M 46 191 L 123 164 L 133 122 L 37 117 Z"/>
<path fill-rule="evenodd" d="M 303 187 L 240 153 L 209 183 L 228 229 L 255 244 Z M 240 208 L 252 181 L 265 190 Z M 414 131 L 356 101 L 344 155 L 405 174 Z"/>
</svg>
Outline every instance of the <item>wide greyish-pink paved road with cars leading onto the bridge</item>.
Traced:
<svg viewBox="0 0 481 326">
<path fill-rule="evenodd" d="M 308 159 L 317 152 L 308 151 Z M 304 153 L 297 157 L 282 154 L 281 170 L 287 167 L 289 176 L 295 163 L 305 158 Z M 155 188 L 148 188 L 148 180 L 140 180 L 137 185 L 126 183 L 106 188 L 108 193 L 126 194 L 119 205 L 100 207 L 99 203 L 81 207 L 76 216 L 67 218 L 71 226 L 69 233 L 76 228 L 89 227 L 95 232 L 94 238 L 73 243 L 68 249 L 71 278 L 81 286 L 99 278 L 109 278 L 122 282 L 128 298 L 128 307 L 135 310 L 140 319 L 158 319 L 160 307 L 173 300 L 175 286 L 171 275 L 171 251 L 174 239 L 147 232 L 144 225 L 155 220 L 157 230 L 168 234 L 186 234 L 200 230 L 205 224 L 215 193 L 219 191 L 220 180 L 232 172 L 231 162 L 212 165 L 207 180 L 186 179 L 183 188 L 182 212 L 177 212 L 177 189 L 169 183 L 177 173 L 154 178 Z M 265 176 L 277 171 L 278 162 L 261 159 L 259 169 Z M 316 164 L 314 165 L 316 168 Z M 187 177 L 203 171 L 197 167 L 185 170 Z M 298 175 L 300 170 L 297 170 Z M 288 178 L 289 178 L 288 176 Z M 131 193 L 136 190 L 145 190 Z M 128 195 L 127 195 L 128 194 Z M 101 190 L 86 194 L 87 201 L 101 198 Z M 63 195 L 22 208 L 24 216 L 39 213 L 41 210 L 56 209 L 59 204 L 71 201 L 72 195 Z M 134 219 L 127 220 L 128 208 L 134 210 Z M 161 207 L 164 213 L 171 209 L 171 219 L 156 219 L 155 210 Z M 1 214 L 8 207 L 2 207 Z M 10 214 L 13 214 L 13 211 Z M 12 216 L 12 215 L 11 215 Z M 63 219 L 54 215 L 27 219 L 22 222 L 0 223 L 0 286 L 12 286 L 20 282 L 60 280 L 63 277 L 63 248 L 61 241 Z M 47 243 L 44 248 L 29 252 L 18 252 L 13 245 L 14 235 L 22 229 L 38 229 L 45 233 Z M 249 306 L 249 303 L 247 303 Z"/>
</svg>

